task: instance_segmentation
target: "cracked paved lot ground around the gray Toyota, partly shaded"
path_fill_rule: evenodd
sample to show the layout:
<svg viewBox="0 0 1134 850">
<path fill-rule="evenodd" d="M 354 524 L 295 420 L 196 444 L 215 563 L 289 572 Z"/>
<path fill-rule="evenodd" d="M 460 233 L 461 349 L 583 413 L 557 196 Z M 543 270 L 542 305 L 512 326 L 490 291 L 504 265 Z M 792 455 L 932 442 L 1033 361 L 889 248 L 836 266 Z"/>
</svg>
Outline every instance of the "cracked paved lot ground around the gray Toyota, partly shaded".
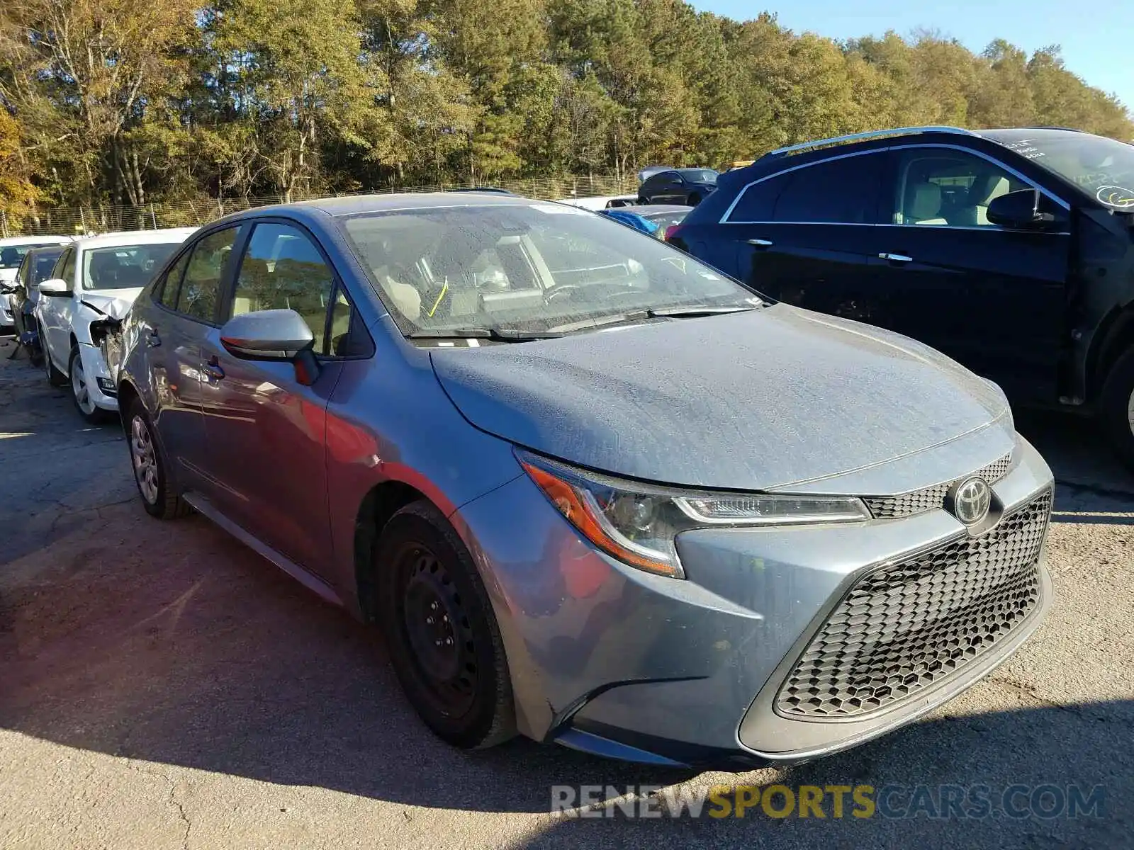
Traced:
<svg viewBox="0 0 1134 850">
<path fill-rule="evenodd" d="M 1021 430 L 1059 486 L 1056 602 L 946 709 L 787 771 L 434 740 L 370 629 L 206 520 L 150 519 L 115 427 L 0 347 L 0 848 L 1134 845 L 1134 481 L 1085 424 Z M 1080 818 L 549 814 L 551 785 L 1105 789 Z M 617 813 L 616 813 L 617 814 Z"/>
</svg>

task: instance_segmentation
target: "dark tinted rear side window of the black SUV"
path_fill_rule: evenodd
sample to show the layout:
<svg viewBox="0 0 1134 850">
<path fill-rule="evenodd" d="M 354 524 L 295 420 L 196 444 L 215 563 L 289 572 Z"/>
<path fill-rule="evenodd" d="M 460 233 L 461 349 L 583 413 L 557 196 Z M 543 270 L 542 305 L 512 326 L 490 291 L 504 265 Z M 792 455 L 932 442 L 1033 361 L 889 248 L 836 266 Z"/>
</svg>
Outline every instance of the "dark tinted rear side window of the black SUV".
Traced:
<svg viewBox="0 0 1134 850">
<path fill-rule="evenodd" d="M 873 224 L 885 154 L 843 156 L 750 186 L 729 221 Z"/>
</svg>

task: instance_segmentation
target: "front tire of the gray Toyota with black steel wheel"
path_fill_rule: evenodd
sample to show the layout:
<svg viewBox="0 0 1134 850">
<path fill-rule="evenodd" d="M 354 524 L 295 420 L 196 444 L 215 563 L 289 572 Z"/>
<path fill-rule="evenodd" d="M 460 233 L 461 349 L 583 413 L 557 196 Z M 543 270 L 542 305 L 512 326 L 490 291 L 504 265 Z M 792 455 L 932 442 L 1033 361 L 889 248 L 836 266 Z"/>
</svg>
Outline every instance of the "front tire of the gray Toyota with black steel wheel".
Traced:
<svg viewBox="0 0 1134 850">
<path fill-rule="evenodd" d="M 406 505 L 382 529 L 374 569 L 390 662 L 425 725 L 462 749 L 513 738 L 515 706 L 500 629 L 452 526 L 429 502 Z"/>
</svg>

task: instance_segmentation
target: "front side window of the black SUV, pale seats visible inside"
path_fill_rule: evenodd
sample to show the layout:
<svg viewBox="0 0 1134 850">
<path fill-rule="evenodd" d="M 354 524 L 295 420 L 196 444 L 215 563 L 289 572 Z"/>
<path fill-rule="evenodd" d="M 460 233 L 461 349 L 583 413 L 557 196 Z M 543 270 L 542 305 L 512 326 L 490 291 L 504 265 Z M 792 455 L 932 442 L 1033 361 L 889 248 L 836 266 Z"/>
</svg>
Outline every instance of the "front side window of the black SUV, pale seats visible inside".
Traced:
<svg viewBox="0 0 1134 850">
<path fill-rule="evenodd" d="M 989 204 L 1031 188 L 995 162 L 964 151 L 914 147 L 895 151 L 891 221 L 895 224 L 988 227 Z"/>
</svg>

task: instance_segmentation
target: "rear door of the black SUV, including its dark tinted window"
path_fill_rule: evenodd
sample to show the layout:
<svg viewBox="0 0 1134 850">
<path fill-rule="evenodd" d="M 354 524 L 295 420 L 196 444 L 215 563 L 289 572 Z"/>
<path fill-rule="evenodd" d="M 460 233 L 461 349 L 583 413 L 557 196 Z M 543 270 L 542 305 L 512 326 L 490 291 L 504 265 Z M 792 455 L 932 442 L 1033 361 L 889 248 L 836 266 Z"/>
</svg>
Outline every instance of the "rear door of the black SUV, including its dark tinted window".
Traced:
<svg viewBox="0 0 1134 850">
<path fill-rule="evenodd" d="M 873 321 L 885 162 L 885 152 L 841 155 L 746 187 L 722 222 L 741 280 L 788 304 Z"/>
</svg>

